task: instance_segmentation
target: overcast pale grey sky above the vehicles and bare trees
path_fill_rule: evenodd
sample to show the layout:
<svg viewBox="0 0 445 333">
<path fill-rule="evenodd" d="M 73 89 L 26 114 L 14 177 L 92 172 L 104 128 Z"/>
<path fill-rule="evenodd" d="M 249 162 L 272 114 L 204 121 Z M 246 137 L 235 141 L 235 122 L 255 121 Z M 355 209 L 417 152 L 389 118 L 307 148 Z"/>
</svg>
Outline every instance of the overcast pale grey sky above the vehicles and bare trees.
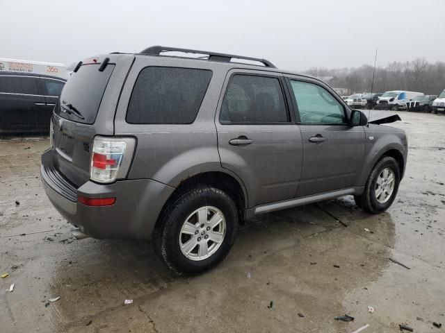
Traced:
<svg viewBox="0 0 445 333">
<path fill-rule="evenodd" d="M 277 67 L 445 61 L 445 0 L 0 0 L 0 58 L 71 65 L 113 51 L 177 46 Z"/>
</svg>

